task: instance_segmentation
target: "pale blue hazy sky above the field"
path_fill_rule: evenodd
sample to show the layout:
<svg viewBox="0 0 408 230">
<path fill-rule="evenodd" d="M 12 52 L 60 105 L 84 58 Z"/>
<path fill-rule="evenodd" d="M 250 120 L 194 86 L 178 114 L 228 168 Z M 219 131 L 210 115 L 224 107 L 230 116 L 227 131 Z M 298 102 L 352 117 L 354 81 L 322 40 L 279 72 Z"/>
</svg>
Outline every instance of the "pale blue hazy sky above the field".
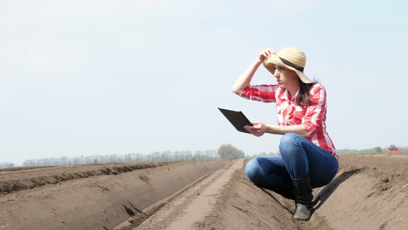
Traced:
<svg viewBox="0 0 408 230">
<path fill-rule="evenodd" d="M 165 150 L 277 152 L 217 107 L 276 124 L 232 93 L 264 48 L 298 46 L 327 91 L 337 149 L 407 146 L 407 1 L 0 3 L 0 162 Z M 262 66 L 252 84 L 276 82 Z"/>
</svg>

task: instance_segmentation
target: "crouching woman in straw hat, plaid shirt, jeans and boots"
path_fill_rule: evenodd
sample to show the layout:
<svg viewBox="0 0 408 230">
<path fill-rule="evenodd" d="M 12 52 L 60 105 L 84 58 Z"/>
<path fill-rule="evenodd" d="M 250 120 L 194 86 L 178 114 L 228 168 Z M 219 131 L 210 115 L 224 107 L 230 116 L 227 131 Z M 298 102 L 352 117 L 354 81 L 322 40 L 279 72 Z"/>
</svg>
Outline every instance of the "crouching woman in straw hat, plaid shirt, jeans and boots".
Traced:
<svg viewBox="0 0 408 230">
<path fill-rule="evenodd" d="M 250 85 L 262 63 L 277 85 Z M 266 49 L 232 88 L 243 98 L 276 103 L 277 125 L 256 122 L 245 129 L 254 136 L 284 135 L 281 157 L 252 159 L 245 173 L 255 185 L 295 200 L 298 220 L 309 220 L 313 213 L 312 188 L 331 182 L 338 170 L 338 155 L 326 132 L 326 89 L 303 73 L 305 65 L 306 55 L 299 48 L 278 53 Z"/>
</svg>

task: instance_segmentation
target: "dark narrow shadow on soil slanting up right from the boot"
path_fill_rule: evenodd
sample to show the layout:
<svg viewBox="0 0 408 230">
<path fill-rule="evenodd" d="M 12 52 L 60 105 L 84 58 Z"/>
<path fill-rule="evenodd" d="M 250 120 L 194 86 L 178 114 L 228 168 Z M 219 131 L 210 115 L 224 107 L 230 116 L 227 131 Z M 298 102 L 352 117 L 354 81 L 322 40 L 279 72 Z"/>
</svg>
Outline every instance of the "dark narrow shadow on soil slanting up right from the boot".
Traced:
<svg viewBox="0 0 408 230">
<path fill-rule="evenodd" d="M 335 189 L 340 184 L 342 184 L 346 179 L 349 179 L 351 175 L 354 175 L 355 173 L 358 173 L 358 172 L 360 172 L 360 168 L 354 169 L 351 171 L 347 171 L 347 172 L 343 172 L 340 176 L 336 177 L 330 183 L 324 186 L 324 188 L 322 188 L 322 190 L 319 191 L 317 195 L 315 195 L 316 198 L 313 201 L 313 203 L 317 204 L 317 206 L 315 206 L 314 210 L 319 209 L 319 207 L 322 206 L 324 202 L 326 202 L 328 197 L 330 197 L 330 195 L 335 191 Z"/>
</svg>

